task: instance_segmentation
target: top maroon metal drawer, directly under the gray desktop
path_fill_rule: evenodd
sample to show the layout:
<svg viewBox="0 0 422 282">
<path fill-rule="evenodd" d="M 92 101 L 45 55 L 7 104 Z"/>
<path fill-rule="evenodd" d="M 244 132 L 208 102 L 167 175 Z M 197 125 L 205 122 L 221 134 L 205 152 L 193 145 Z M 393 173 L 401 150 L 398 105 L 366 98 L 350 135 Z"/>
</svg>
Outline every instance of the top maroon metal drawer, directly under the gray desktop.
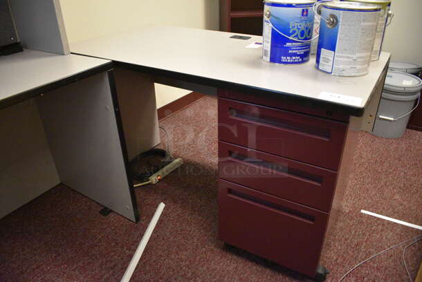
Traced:
<svg viewBox="0 0 422 282">
<path fill-rule="evenodd" d="M 338 170 L 347 124 L 219 98 L 219 140 Z"/>
</svg>

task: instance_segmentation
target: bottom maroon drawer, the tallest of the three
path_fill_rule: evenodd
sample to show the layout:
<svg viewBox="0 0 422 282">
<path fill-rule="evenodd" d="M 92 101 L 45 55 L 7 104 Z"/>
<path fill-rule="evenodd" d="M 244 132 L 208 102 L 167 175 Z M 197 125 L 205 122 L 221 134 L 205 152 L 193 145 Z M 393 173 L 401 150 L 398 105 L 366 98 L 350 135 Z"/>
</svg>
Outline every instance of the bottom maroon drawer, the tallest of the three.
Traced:
<svg viewBox="0 0 422 282">
<path fill-rule="evenodd" d="M 219 180 L 219 236 L 243 250 L 315 276 L 328 214 Z"/>
</svg>

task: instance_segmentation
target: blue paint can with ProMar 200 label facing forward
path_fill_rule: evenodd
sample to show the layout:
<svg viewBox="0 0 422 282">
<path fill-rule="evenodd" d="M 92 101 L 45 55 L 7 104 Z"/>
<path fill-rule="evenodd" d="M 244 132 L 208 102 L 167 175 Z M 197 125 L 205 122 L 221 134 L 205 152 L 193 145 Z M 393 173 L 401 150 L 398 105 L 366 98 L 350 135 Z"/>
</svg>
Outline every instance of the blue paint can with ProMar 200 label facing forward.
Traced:
<svg viewBox="0 0 422 282">
<path fill-rule="evenodd" d="M 315 0 L 264 0 L 262 59 L 276 64 L 309 61 Z"/>
</svg>

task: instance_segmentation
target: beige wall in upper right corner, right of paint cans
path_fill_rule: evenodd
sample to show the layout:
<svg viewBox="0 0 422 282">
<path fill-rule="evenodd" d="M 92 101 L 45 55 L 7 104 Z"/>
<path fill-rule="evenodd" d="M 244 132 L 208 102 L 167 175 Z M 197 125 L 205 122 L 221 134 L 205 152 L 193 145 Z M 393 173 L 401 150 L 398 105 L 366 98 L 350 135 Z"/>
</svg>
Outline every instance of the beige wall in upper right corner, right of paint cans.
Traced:
<svg viewBox="0 0 422 282">
<path fill-rule="evenodd" d="M 383 50 L 395 61 L 422 64 L 422 0 L 392 0 L 392 10 Z"/>
</svg>

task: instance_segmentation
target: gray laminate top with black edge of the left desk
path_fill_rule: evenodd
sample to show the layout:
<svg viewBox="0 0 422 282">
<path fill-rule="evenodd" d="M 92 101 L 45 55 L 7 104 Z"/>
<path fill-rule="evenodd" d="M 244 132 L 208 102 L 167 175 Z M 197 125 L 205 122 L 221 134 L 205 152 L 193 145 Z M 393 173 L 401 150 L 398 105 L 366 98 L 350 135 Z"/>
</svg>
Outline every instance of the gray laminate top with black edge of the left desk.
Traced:
<svg viewBox="0 0 422 282">
<path fill-rule="evenodd" d="M 24 50 L 0 57 L 0 108 L 35 96 L 37 90 L 47 90 L 54 84 L 71 82 L 82 73 L 111 68 L 111 62 L 79 55 L 56 55 Z M 80 78 L 80 77 L 79 77 Z M 34 94 L 35 93 L 35 94 Z M 41 92 L 42 93 L 42 92 Z"/>
</svg>

